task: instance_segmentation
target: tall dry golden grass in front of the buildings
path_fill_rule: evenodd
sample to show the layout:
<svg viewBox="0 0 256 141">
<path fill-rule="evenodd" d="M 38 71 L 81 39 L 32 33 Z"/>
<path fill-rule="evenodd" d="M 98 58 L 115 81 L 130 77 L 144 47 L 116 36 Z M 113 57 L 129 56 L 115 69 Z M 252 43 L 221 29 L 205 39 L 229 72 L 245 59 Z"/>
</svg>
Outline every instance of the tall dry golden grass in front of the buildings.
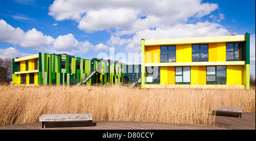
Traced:
<svg viewBox="0 0 256 141">
<path fill-rule="evenodd" d="M 0 85 L 0 125 L 35 123 L 42 114 L 61 113 L 93 113 L 94 121 L 212 125 L 212 106 L 255 113 L 255 89 Z"/>
</svg>

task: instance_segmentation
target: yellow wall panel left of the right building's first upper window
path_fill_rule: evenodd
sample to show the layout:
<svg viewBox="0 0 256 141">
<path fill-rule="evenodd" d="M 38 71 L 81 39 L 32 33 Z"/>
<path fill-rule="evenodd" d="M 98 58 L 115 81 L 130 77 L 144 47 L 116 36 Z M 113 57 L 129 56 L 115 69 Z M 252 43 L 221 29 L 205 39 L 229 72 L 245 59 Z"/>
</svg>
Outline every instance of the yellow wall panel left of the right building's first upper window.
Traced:
<svg viewBox="0 0 256 141">
<path fill-rule="evenodd" d="M 146 63 L 160 63 L 160 46 L 146 47 Z"/>
</svg>

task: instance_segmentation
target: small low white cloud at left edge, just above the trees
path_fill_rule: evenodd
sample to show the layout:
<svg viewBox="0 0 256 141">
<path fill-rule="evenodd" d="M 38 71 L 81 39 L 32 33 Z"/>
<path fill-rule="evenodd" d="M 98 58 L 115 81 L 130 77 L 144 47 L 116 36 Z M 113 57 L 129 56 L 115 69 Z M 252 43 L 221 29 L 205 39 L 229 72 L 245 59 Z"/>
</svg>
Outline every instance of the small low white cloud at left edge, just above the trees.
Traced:
<svg viewBox="0 0 256 141">
<path fill-rule="evenodd" d="M 24 57 L 31 55 L 30 53 L 23 53 L 18 51 L 17 49 L 13 47 L 9 47 L 7 49 L 0 49 L 0 58 L 5 59 L 5 58 L 16 58 L 16 57 Z"/>
</svg>

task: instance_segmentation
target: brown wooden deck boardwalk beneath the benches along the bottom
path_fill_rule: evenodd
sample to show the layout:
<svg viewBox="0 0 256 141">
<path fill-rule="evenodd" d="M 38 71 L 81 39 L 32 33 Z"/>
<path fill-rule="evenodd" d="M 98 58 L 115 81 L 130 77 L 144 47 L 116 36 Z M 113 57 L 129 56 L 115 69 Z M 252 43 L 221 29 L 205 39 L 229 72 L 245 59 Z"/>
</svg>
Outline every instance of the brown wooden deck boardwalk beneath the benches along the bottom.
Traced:
<svg viewBox="0 0 256 141">
<path fill-rule="evenodd" d="M 242 118 L 216 116 L 216 125 L 185 125 L 156 122 L 93 121 L 93 127 L 41 128 L 41 123 L 0 126 L 0 130 L 255 130 L 255 113 L 243 113 Z"/>
</svg>

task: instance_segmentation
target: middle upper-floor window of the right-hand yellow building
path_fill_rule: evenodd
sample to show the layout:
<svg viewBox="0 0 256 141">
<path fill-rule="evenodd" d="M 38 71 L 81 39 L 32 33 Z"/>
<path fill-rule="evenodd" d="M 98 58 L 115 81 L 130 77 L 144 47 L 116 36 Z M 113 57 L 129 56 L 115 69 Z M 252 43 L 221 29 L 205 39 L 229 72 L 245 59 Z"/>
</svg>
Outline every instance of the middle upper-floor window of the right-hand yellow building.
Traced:
<svg viewBox="0 0 256 141">
<path fill-rule="evenodd" d="M 192 44 L 192 61 L 208 61 L 208 44 Z"/>
</svg>

